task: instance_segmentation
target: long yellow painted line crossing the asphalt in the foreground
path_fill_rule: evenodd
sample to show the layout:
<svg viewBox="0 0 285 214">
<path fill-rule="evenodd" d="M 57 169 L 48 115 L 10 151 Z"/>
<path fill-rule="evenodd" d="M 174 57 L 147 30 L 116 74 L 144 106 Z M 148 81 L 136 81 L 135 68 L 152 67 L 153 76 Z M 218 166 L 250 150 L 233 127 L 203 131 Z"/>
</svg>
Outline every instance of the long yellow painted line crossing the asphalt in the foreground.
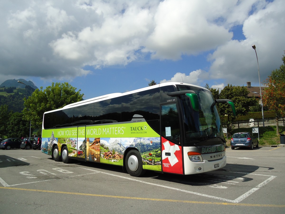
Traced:
<svg viewBox="0 0 285 214">
<path fill-rule="evenodd" d="M 120 199 L 193 203 L 193 204 L 234 205 L 234 206 L 247 206 L 247 207 L 278 207 L 278 208 L 285 207 L 285 205 L 282 205 L 282 204 L 280 205 L 278 204 L 245 204 L 245 203 L 224 203 L 224 202 L 208 202 L 208 201 L 186 201 L 186 200 L 159 199 L 159 198 L 127 197 L 127 196 L 117 196 L 117 195 L 98 195 L 98 194 L 89 194 L 89 193 L 62 192 L 62 191 L 51 191 L 51 190 L 42 190 L 42 189 L 24 189 L 24 188 L 15 188 L 15 187 L 0 187 L 0 189 L 59 193 L 59 194 L 69 194 L 69 195 L 84 195 L 84 196 L 107 197 L 107 198 L 120 198 Z"/>
</svg>

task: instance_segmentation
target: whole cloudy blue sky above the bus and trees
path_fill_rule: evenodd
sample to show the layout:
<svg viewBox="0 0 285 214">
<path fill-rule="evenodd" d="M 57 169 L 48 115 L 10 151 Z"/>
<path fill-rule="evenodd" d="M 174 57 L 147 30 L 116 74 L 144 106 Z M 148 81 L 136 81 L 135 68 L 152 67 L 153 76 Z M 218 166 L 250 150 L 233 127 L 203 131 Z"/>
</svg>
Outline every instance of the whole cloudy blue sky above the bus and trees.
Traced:
<svg viewBox="0 0 285 214">
<path fill-rule="evenodd" d="M 0 84 L 68 82 L 84 99 L 186 82 L 259 86 L 282 64 L 283 0 L 0 1 Z"/>
</svg>

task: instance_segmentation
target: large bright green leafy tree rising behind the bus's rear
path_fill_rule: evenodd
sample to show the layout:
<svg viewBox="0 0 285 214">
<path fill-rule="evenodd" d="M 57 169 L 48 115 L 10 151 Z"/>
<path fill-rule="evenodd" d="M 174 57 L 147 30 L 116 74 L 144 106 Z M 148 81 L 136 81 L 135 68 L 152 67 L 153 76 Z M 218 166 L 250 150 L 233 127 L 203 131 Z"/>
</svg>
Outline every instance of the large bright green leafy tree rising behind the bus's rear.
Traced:
<svg viewBox="0 0 285 214">
<path fill-rule="evenodd" d="M 67 82 L 53 82 L 44 90 L 42 87 L 36 89 L 28 99 L 24 98 L 23 119 L 41 128 L 44 112 L 82 100 L 84 94 L 80 94 L 81 89 L 77 92 L 76 89 Z"/>
</svg>

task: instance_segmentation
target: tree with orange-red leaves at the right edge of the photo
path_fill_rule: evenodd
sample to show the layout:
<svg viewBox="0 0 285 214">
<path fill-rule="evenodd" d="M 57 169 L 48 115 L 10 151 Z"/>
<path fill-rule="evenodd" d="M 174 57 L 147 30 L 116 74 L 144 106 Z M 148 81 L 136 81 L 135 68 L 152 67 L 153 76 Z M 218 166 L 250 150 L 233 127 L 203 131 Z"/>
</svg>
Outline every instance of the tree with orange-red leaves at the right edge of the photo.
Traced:
<svg viewBox="0 0 285 214">
<path fill-rule="evenodd" d="M 285 53 L 285 51 L 284 51 Z M 278 117 L 285 116 L 285 56 L 283 65 L 279 69 L 271 71 L 271 75 L 265 80 L 263 104 L 275 112 L 276 135 L 279 135 Z"/>
</svg>

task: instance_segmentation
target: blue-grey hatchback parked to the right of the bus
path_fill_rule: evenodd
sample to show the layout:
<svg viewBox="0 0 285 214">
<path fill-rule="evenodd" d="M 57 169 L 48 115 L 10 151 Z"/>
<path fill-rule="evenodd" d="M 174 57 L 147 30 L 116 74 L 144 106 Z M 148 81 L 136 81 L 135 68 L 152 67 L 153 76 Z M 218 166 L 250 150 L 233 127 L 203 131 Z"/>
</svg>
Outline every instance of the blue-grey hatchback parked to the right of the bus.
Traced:
<svg viewBox="0 0 285 214">
<path fill-rule="evenodd" d="M 237 147 L 249 147 L 250 150 L 253 150 L 253 147 L 258 148 L 258 139 L 253 137 L 250 132 L 239 132 L 233 134 L 231 139 L 231 149 Z"/>
</svg>

